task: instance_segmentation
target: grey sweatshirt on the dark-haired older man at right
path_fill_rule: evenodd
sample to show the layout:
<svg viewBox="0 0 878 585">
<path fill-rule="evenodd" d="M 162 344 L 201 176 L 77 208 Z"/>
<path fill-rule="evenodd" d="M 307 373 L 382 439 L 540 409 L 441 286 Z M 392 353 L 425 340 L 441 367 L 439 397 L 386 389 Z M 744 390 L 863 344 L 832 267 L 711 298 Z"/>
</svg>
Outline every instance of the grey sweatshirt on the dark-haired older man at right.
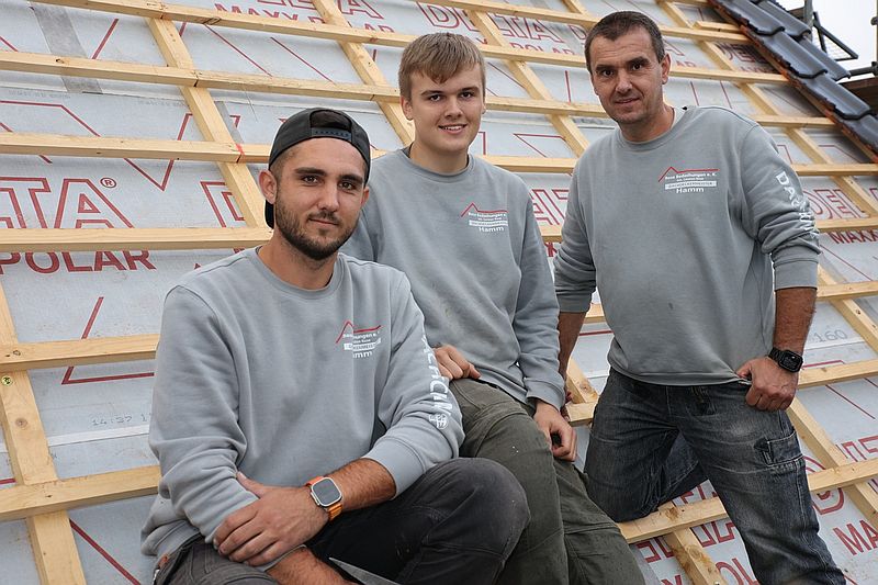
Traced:
<svg viewBox="0 0 878 585">
<path fill-rule="evenodd" d="M 798 178 L 762 127 L 721 108 L 689 109 L 646 143 L 616 131 L 593 144 L 562 238 L 561 311 L 587 311 L 597 286 L 609 363 L 644 382 L 736 380 L 772 347 L 773 289 L 817 285 Z"/>
</svg>

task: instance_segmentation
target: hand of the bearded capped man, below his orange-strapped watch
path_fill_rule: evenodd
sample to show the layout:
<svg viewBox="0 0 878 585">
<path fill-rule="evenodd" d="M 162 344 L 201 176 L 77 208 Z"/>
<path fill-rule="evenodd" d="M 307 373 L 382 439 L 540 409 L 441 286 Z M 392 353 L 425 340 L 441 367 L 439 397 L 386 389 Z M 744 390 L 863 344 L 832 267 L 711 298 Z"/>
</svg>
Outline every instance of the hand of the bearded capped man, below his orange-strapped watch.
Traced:
<svg viewBox="0 0 878 585">
<path fill-rule="evenodd" d="M 219 554 L 252 566 L 269 563 L 311 539 L 329 521 L 307 487 L 262 485 L 238 474 L 259 499 L 223 520 L 214 537 Z"/>
</svg>

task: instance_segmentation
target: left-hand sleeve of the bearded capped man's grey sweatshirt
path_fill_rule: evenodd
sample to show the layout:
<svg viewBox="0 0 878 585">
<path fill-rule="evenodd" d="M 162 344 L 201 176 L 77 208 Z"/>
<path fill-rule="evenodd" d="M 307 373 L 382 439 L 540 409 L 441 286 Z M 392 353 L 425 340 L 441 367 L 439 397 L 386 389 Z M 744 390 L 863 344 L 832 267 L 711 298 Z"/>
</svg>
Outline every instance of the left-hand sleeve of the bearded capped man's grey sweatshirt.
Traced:
<svg viewBox="0 0 878 585">
<path fill-rule="evenodd" d="M 168 293 L 156 353 L 149 446 L 159 458 L 159 495 L 202 535 L 255 502 L 236 480 L 246 449 L 238 426 L 237 375 L 216 315 L 196 294 Z"/>
</svg>

